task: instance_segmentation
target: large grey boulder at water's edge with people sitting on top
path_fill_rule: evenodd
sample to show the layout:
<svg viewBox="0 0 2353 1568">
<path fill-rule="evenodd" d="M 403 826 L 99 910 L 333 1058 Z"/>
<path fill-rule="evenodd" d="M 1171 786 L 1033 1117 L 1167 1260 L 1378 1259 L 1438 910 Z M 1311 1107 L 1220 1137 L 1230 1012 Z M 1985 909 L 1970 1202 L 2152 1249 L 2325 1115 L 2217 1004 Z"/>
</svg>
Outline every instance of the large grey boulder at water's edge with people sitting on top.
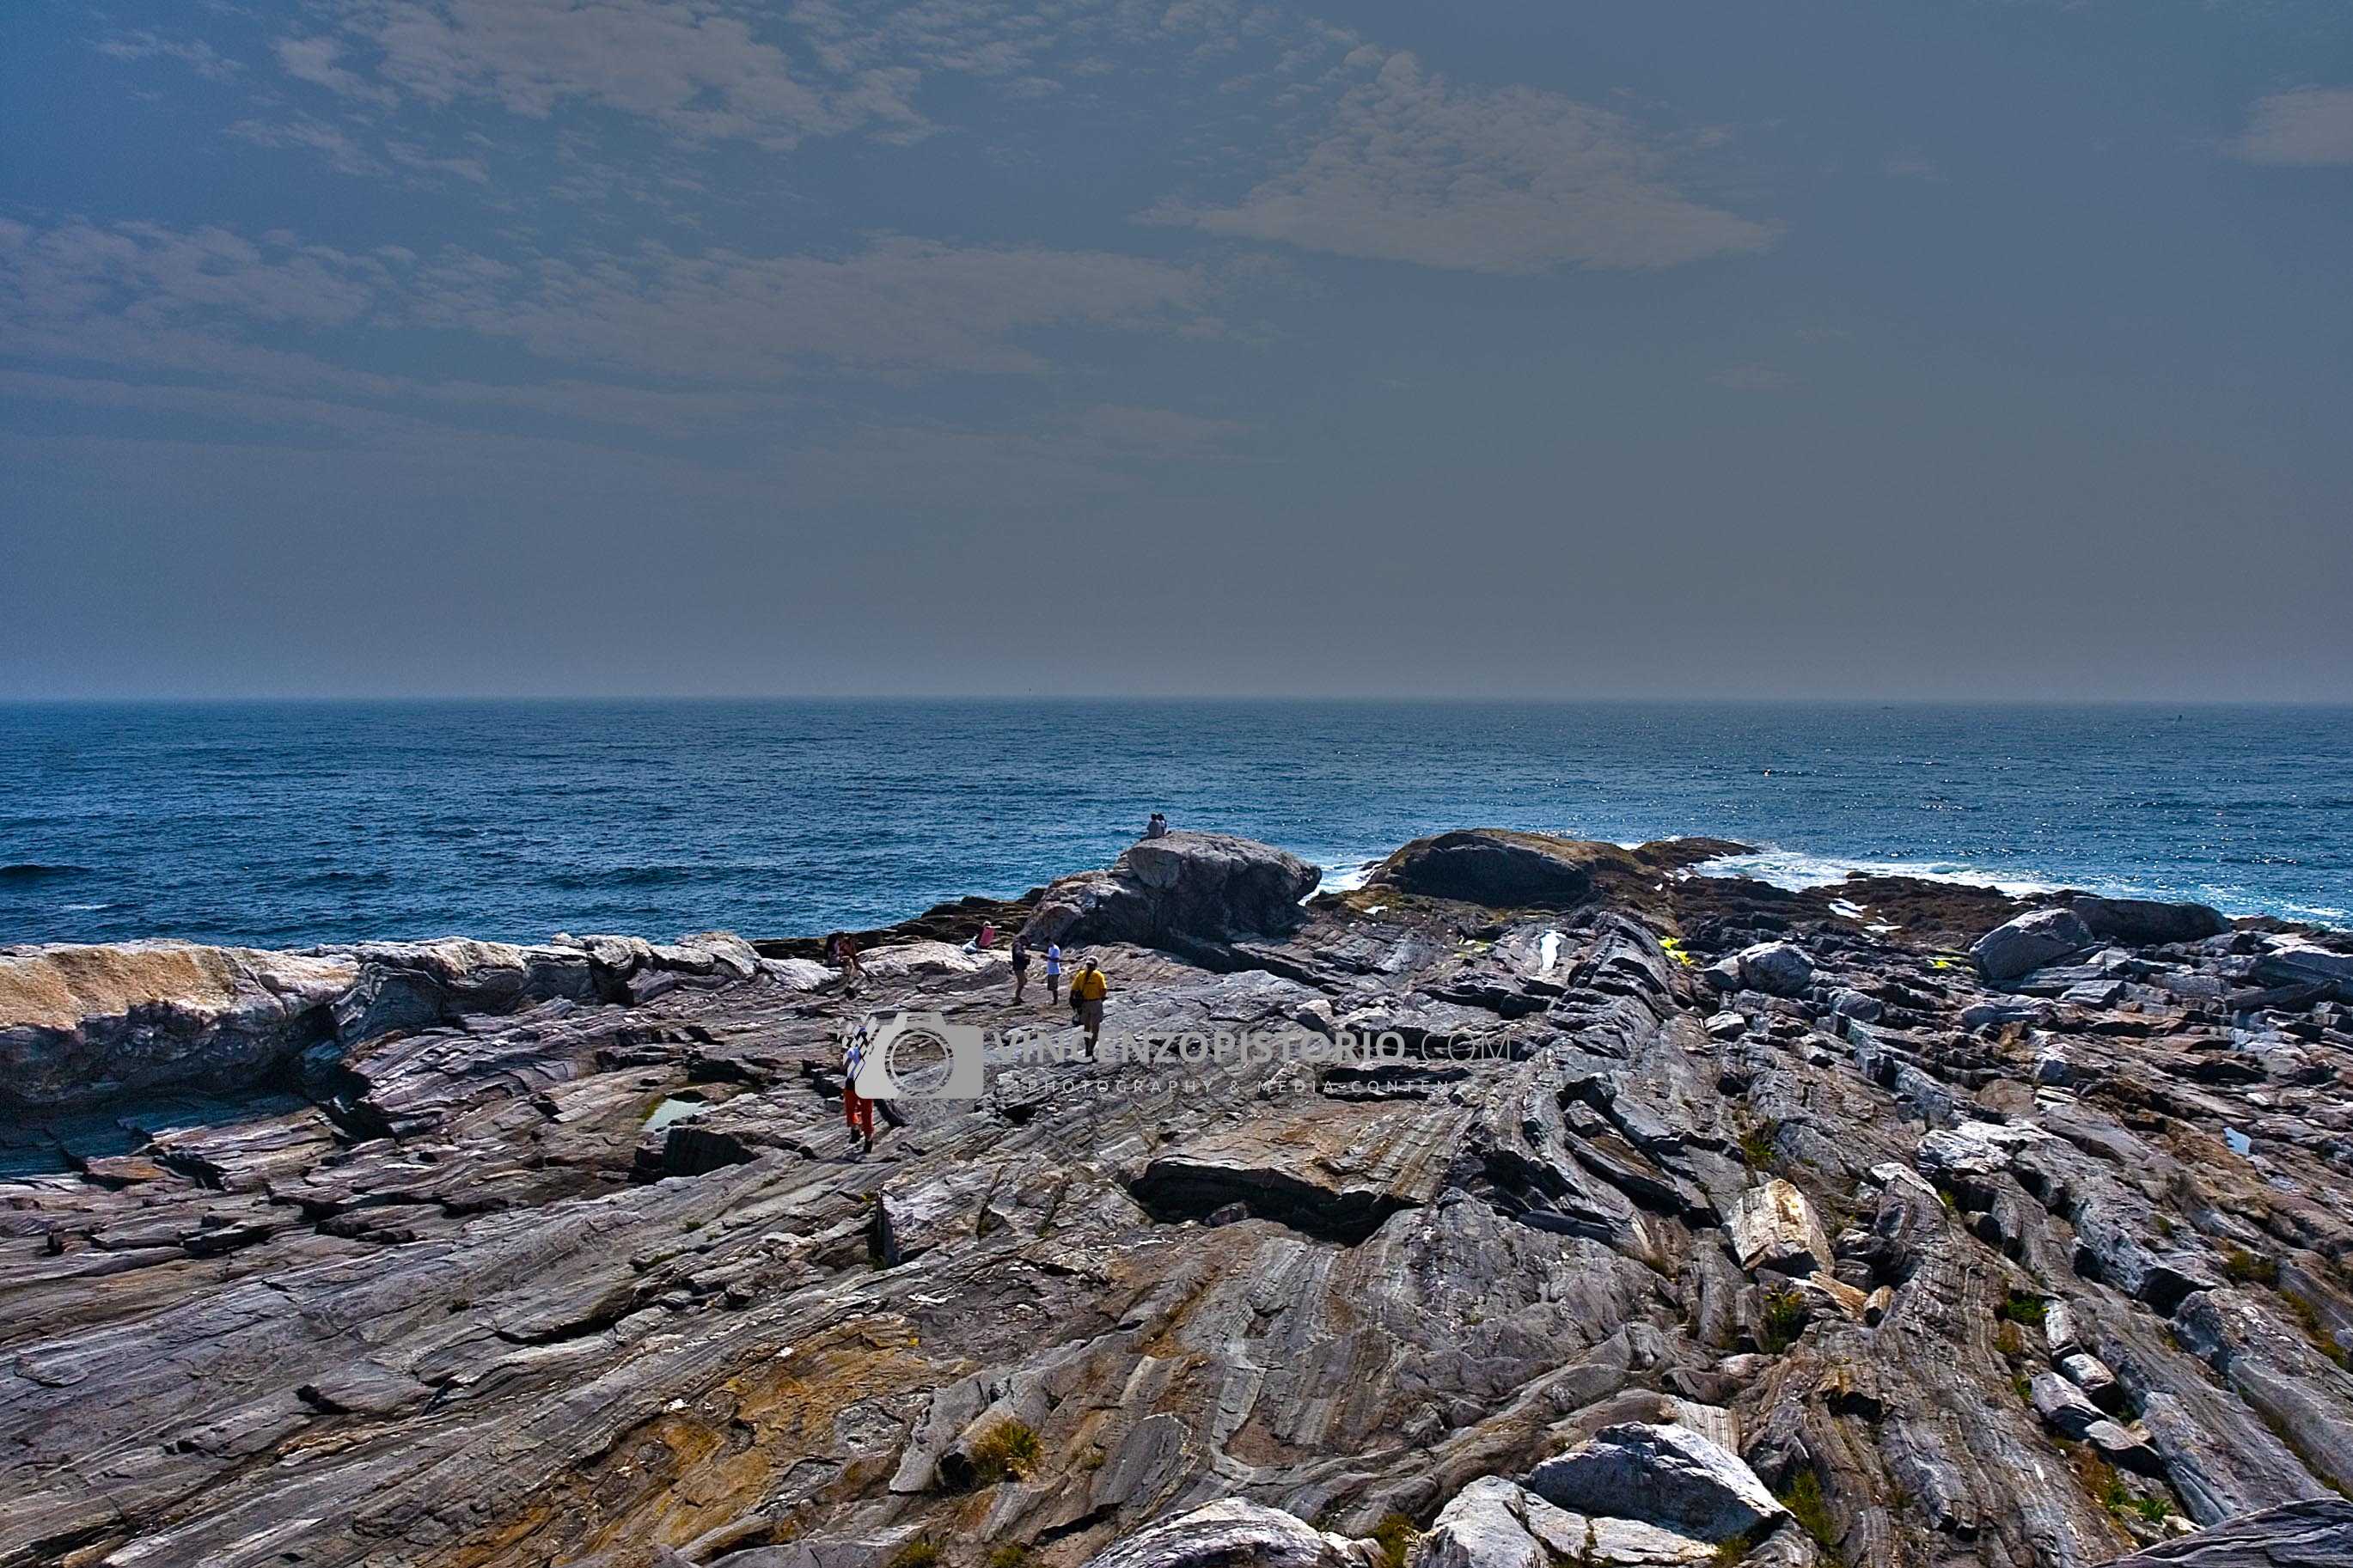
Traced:
<svg viewBox="0 0 2353 1568">
<path fill-rule="evenodd" d="M 1047 943 L 1184 947 L 1238 936 L 1287 936 L 1322 879 L 1294 853 L 1231 832 L 1169 832 L 1132 844 L 1111 870 L 1061 877 L 1021 933 Z"/>
</svg>

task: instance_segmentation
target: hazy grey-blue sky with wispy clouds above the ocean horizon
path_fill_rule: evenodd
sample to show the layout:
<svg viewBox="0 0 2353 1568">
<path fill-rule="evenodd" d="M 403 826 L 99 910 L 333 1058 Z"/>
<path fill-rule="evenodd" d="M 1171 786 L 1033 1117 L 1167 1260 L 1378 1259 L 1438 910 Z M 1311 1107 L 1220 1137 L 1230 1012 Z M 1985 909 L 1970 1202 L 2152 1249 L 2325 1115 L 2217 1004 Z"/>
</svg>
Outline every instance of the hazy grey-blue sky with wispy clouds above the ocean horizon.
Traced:
<svg viewBox="0 0 2353 1568">
<path fill-rule="evenodd" d="M 2344 0 L 12 0 L 0 696 L 2353 696 Z"/>
</svg>

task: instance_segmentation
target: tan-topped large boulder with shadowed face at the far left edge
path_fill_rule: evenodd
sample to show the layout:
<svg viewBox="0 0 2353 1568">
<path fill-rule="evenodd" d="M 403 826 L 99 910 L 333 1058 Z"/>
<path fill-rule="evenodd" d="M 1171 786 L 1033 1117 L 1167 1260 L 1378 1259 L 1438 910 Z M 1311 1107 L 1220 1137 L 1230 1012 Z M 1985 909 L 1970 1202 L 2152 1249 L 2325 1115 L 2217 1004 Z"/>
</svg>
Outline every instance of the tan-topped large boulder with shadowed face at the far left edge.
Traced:
<svg viewBox="0 0 2353 1568">
<path fill-rule="evenodd" d="M 334 1030 L 346 954 L 191 943 L 0 950 L 0 1107 L 245 1088 Z"/>
</svg>

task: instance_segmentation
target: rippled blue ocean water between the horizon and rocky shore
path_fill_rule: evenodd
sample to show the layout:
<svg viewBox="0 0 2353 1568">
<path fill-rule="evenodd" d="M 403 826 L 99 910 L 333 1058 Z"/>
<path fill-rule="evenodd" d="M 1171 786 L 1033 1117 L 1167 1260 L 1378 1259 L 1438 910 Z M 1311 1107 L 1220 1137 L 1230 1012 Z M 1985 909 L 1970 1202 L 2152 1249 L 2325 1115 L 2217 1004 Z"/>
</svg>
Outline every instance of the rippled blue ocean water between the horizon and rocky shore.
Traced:
<svg viewBox="0 0 2353 1568">
<path fill-rule="evenodd" d="M 2353 924 L 2353 708 L 202 703 L 0 708 L 0 940 L 871 926 L 1146 813 L 1346 877 L 1504 825 Z"/>
</svg>

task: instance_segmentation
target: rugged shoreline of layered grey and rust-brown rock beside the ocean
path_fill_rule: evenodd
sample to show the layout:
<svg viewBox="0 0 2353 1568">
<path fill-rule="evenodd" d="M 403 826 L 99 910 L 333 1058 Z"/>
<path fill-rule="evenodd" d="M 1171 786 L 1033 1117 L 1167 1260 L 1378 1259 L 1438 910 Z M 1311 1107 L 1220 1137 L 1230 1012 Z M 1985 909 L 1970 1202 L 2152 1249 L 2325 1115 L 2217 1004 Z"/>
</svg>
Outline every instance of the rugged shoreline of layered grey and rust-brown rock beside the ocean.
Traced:
<svg viewBox="0 0 2353 1568">
<path fill-rule="evenodd" d="M 854 1001 L 0 950 L 0 1568 L 2353 1561 L 2353 943 L 1729 849 L 1172 835 Z M 981 912 L 1106 1037 L 1407 1060 L 1000 1067 L 861 1159 L 864 1009 L 1066 1025 Z"/>
</svg>

